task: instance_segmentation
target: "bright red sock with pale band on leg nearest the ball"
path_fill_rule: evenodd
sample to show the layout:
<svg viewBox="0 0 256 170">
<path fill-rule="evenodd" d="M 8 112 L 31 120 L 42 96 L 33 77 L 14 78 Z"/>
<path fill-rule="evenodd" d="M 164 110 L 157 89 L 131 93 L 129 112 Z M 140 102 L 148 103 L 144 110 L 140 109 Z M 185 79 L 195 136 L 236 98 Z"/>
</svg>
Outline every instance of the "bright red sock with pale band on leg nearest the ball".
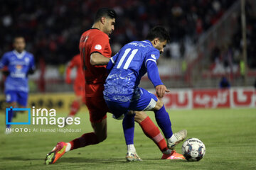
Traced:
<svg viewBox="0 0 256 170">
<path fill-rule="evenodd" d="M 139 125 L 142 127 L 144 134 L 156 143 L 161 152 L 164 152 L 168 149 L 166 140 L 164 140 L 164 137 L 161 135 L 159 128 L 154 125 L 149 116 L 146 117 L 141 123 L 139 123 Z"/>
</svg>

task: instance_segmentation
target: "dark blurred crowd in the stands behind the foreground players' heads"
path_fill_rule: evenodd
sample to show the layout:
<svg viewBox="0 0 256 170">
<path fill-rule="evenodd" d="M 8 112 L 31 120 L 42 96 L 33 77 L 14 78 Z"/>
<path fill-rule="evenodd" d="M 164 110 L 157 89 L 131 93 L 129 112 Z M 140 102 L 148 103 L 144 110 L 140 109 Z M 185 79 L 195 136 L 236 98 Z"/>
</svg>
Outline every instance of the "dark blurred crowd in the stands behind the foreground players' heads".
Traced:
<svg viewBox="0 0 256 170">
<path fill-rule="evenodd" d="M 10 0 L 0 1 L 0 55 L 12 49 L 14 35 L 24 35 L 27 50 L 47 64 L 64 64 L 77 54 L 83 31 L 97 8 L 110 7 L 118 18 L 110 43 L 113 52 L 132 40 L 143 40 L 155 25 L 169 29 L 174 50 L 184 53 L 186 38 L 196 42 L 233 0 Z M 177 50 L 178 49 L 178 50 Z M 170 48 L 171 50 L 171 48 Z M 166 57 L 175 57 L 169 52 Z"/>
</svg>

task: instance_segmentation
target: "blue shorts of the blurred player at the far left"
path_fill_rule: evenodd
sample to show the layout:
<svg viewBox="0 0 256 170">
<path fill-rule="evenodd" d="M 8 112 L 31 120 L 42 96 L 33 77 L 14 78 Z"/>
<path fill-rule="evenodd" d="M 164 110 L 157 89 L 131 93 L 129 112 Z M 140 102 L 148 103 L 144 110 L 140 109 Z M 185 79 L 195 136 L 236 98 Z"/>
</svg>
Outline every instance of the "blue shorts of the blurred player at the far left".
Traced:
<svg viewBox="0 0 256 170">
<path fill-rule="evenodd" d="M 6 102 L 17 102 L 21 106 L 25 106 L 28 103 L 28 93 L 23 91 L 5 91 Z"/>
</svg>

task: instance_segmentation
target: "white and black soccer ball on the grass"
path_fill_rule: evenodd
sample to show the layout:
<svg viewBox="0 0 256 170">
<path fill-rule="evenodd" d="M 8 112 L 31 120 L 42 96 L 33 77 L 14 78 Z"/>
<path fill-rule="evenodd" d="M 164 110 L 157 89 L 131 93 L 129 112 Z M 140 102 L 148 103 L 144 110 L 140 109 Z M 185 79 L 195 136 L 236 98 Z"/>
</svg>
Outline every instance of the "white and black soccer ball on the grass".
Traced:
<svg viewBox="0 0 256 170">
<path fill-rule="evenodd" d="M 206 146 L 198 138 L 189 138 L 183 142 L 181 153 L 189 162 L 200 161 L 206 154 Z"/>
</svg>

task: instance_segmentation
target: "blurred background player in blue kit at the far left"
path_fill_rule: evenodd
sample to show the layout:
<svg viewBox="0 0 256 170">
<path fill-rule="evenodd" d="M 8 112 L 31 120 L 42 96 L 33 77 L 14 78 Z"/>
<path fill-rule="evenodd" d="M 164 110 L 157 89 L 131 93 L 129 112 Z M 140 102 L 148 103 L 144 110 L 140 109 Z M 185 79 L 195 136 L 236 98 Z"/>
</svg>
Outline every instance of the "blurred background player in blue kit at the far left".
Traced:
<svg viewBox="0 0 256 170">
<path fill-rule="evenodd" d="M 25 50 L 26 42 L 22 36 L 14 38 L 14 50 L 6 52 L 0 61 L 0 69 L 8 67 L 9 75 L 4 84 L 6 102 L 15 108 L 26 108 L 28 101 L 28 74 L 35 71 L 33 55 Z M 17 105 L 18 104 L 18 105 Z M 13 111 L 9 111 L 8 120 L 11 122 Z M 6 125 L 10 128 L 10 125 Z M 6 130 L 6 132 L 10 132 Z"/>
</svg>

